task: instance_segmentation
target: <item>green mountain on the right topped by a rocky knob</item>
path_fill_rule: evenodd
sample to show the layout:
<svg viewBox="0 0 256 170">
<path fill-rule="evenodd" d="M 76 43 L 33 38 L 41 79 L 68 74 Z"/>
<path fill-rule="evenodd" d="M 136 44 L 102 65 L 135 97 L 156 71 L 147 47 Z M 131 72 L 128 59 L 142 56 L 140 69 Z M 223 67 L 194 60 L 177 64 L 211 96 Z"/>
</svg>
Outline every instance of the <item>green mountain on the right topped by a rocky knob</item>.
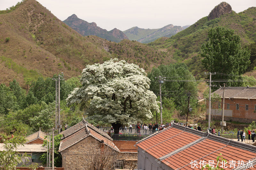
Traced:
<svg viewBox="0 0 256 170">
<path fill-rule="evenodd" d="M 229 4 L 222 2 L 208 16 L 170 38 L 159 38 L 149 43 L 157 49 L 172 51 L 177 62 L 184 62 L 193 74 L 204 72 L 201 64 L 200 48 L 208 40 L 208 31 L 216 26 L 234 29 L 241 38 L 242 45 L 256 41 L 256 8 L 251 7 L 236 13 Z"/>
</svg>

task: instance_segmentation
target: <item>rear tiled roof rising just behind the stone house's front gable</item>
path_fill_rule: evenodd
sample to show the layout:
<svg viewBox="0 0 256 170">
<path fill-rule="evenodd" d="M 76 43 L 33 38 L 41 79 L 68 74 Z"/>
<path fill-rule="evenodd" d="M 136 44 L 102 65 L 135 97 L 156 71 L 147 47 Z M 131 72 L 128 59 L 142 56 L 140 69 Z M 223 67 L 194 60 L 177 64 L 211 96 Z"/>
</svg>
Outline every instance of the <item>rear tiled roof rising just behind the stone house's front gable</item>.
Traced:
<svg viewBox="0 0 256 170">
<path fill-rule="evenodd" d="M 83 121 L 77 123 L 76 125 L 68 128 L 67 130 L 62 131 L 60 134 L 63 135 L 64 138 L 67 138 L 68 136 L 76 133 L 80 129 L 83 129 L 85 127 L 85 123 L 87 123 L 84 119 Z M 90 123 L 87 123 L 87 126 L 90 127 L 93 131 L 96 131 L 97 133 L 103 135 L 104 137 L 108 138 L 109 140 L 112 140 L 111 137 L 108 136 L 108 134 L 94 126 L 92 126 Z"/>
</svg>

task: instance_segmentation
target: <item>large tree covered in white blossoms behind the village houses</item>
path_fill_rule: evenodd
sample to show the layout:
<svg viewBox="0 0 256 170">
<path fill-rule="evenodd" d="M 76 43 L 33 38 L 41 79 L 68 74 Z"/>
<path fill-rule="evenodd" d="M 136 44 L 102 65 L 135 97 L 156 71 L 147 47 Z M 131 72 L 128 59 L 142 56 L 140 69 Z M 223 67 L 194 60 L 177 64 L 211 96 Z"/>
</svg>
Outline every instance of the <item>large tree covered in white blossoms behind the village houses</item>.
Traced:
<svg viewBox="0 0 256 170">
<path fill-rule="evenodd" d="M 138 65 L 111 59 L 87 65 L 82 72 L 82 87 L 68 96 L 69 106 L 81 104 L 88 119 L 111 123 L 114 133 L 122 124 L 134 123 L 159 112 L 156 95 L 148 90 L 149 78 Z"/>
</svg>

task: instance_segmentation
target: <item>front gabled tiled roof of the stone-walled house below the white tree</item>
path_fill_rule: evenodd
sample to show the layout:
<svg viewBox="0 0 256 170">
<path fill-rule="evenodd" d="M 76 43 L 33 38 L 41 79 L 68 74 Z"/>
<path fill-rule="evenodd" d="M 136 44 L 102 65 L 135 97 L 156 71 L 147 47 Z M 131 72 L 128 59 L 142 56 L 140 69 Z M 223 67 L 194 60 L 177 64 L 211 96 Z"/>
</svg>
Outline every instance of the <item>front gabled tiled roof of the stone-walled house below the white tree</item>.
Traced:
<svg viewBox="0 0 256 170">
<path fill-rule="evenodd" d="M 88 136 L 92 136 L 92 137 L 96 138 L 99 141 L 104 140 L 104 144 L 106 144 L 109 147 L 111 147 L 111 148 L 115 149 L 116 151 L 120 152 L 118 150 L 118 148 L 116 147 L 116 145 L 111 140 L 109 140 L 105 136 L 102 136 L 100 133 L 95 131 L 94 127 L 86 126 L 86 124 L 84 124 L 85 126 L 83 126 L 82 124 L 79 124 L 79 123 L 76 124 L 76 125 L 77 125 L 76 126 L 77 130 L 75 130 L 75 132 L 73 132 L 71 134 L 68 134 L 67 137 L 65 137 L 62 141 L 60 141 L 59 152 L 61 152 L 65 149 L 67 149 L 68 147 L 78 143 L 79 141 L 83 140 L 84 138 L 86 138 Z"/>
</svg>

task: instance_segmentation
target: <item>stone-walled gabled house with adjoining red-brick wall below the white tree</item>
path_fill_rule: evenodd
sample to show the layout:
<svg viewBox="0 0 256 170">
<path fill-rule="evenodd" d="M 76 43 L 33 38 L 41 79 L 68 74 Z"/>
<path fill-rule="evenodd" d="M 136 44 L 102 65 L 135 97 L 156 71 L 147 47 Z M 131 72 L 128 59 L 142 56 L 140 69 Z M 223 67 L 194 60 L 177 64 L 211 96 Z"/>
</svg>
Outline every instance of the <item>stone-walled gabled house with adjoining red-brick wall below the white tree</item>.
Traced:
<svg viewBox="0 0 256 170">
<path fill-rule="evenodd" d="M 83 121 L 62 131 L 59 152 L 62 156 L 62 167 L 65 169 L 86 169 L 90 164 L 90 156 L 93 148 L 105 148 L 115 152 L 116 158 L 111 162 L 114 165 L 122 163 L 130 166 L 132 162 L 137 163 L 137 150 L 133 146 L 133 141 L 113 141 L 104 131 L 94 127 L 90 123 Z M 119 148 L 116 146 L 118 145 Z"/>
</svg>

